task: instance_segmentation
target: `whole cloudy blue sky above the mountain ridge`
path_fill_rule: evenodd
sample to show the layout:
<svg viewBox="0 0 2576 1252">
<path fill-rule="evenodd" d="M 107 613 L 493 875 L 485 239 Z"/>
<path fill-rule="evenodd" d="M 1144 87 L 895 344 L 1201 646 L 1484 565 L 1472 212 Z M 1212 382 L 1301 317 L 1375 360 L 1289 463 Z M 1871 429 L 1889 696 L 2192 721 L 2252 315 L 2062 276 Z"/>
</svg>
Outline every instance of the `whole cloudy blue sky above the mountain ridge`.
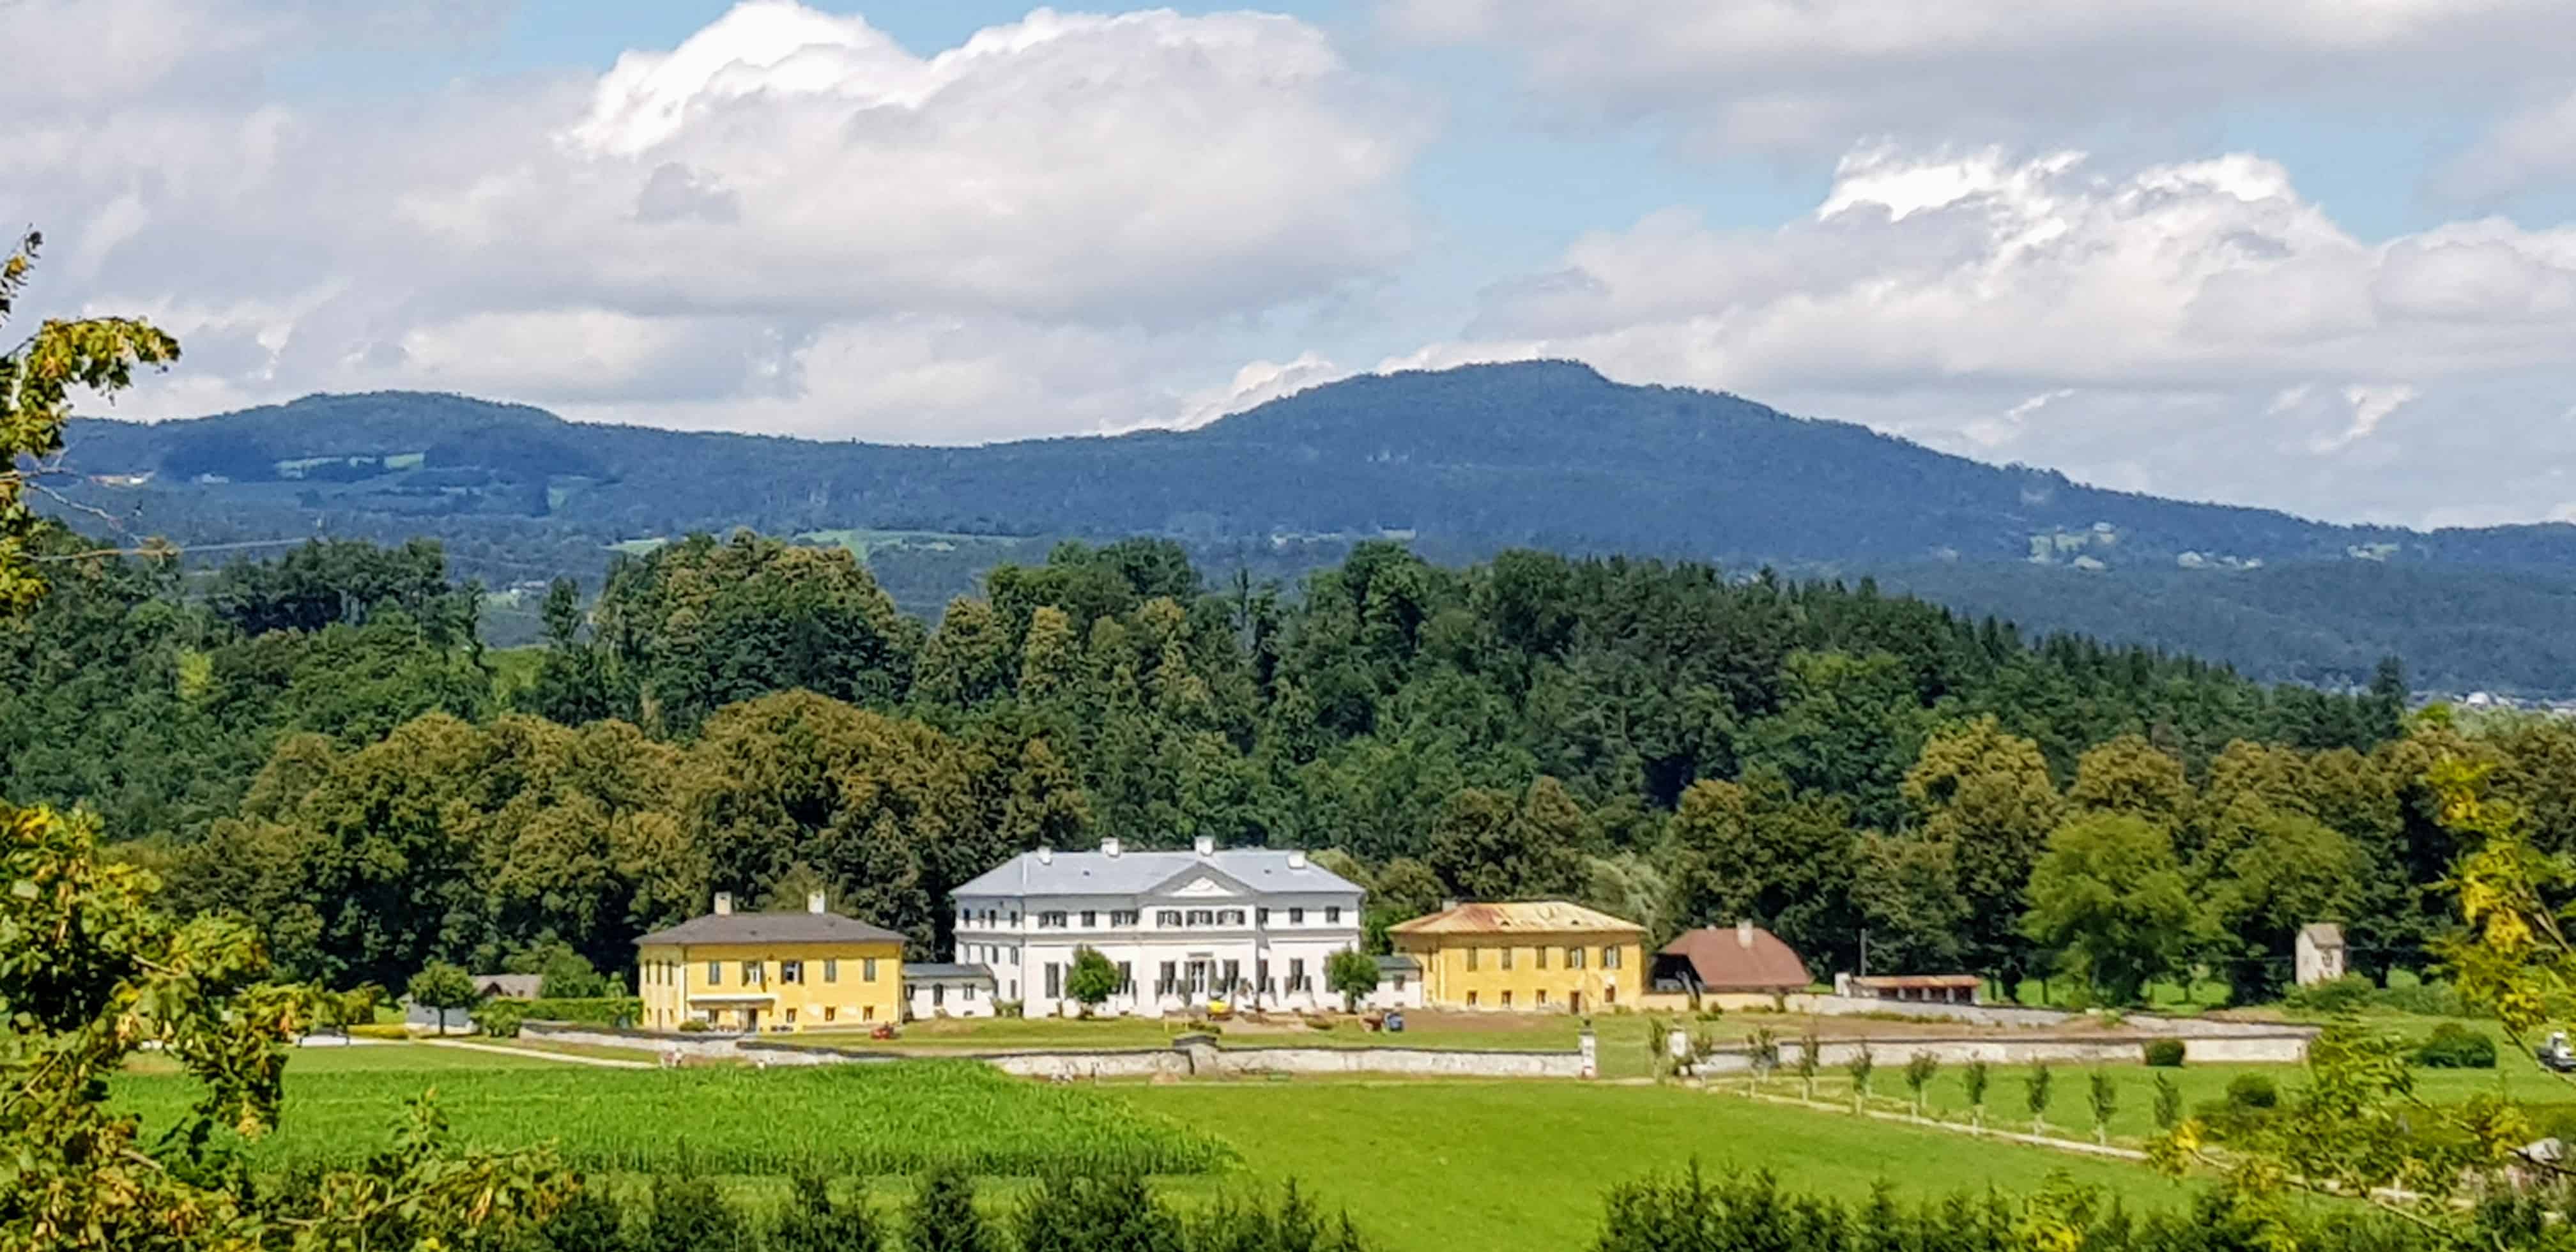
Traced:
<svg viewBox="0 0 2576 1252">
<path fill-rule="evenodd" d="M 894 443 L 1577 358 L 2329 520 L 2576 520 L 2566 0 L 0 0 L 21 309 L 183 417 Z"/>
</svg>

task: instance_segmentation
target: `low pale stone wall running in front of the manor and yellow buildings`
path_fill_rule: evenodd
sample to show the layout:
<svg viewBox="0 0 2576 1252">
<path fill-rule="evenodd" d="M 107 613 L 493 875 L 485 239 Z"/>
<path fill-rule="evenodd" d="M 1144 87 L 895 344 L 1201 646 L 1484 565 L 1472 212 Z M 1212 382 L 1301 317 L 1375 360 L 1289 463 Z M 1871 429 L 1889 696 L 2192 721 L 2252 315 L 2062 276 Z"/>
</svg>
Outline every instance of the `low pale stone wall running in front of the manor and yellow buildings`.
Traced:
<svg viewBox="0 0 2576 1252">
<path fill-rule="evenodd" d="M 688 1059 L 752 1064 L 889 1064 L 904 1056 L 876 1048 L 806 1046 L 775 1038 L 616 1030 L 605 1025 L 526 1023 L 528 1038 L 600 1048 L 677 1051 Z M 1005 1074 L 1033 1079 L 1115 1077 L 1242 1077 L 1242 1074 L 1417 1074 L 1417 1077 L 1584 1077 L 1582 1051 L 1445 1051 L 1445 1048 L 1221 1048 L 1180 1041 L 1170 1048 L 1123 1051 L 958 1051 Z"/>
</svg>

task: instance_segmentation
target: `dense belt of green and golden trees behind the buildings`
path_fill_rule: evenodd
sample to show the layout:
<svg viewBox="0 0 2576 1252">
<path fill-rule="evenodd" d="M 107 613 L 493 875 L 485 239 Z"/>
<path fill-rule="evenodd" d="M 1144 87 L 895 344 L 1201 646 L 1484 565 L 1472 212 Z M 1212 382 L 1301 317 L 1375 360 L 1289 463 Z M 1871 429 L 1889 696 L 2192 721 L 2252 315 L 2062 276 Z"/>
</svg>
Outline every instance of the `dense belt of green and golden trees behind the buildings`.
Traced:
<svg viewBox="0 0 2576 1252">
<path fill-rule="evenodd" d="M 2421 963 L 2432 755 L 2496 760 L 2553 848 L 2576 832 L 2576 726 L 2409 719 L 2393 665 L 2259 685 L 1698 564 L 1363 544 L 1291 593 L 1064 544 L 927 629 L 842 549 L 693 536 L 587 611 L 556 585 L 523 652 L 474 641 L 433 544 L 52 569 L 0 634 L 0 791 L 98 809 L 188 907 L 343 984 L 562 945 L 613 969 L 714 889 L 822 886 L 927 956 L 945 891 L 1015 850 L 1213 835 L 1334 858 L 1373 925 L 1571 896 L 1656 935 L 1752 917 L 1819 974 L 1865 930 L 1875 969 L 2133 994 L 2107 922 L 2043 917 L 2099 886 L 2161 927 L 2141 979 L 2269 994 L 2313 920 L 2365 969 Z"/>
</svg>

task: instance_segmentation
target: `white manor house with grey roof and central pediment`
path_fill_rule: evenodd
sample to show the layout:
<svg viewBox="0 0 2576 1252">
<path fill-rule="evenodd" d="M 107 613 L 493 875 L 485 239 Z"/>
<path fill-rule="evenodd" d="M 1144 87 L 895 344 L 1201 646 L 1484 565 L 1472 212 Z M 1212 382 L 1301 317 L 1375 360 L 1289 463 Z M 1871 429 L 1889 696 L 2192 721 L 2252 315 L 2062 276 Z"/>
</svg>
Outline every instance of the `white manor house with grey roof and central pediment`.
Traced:
<svg viewBox="0 0 2576 1252">
<path fill-rule="evenodd" d="M 1038 848 L 1005 860 L 956 899 L 956 961 L 987 966 L 994 994 L 1030 1018 L 1082 1010 L 1064 994 L 1074 951 L 1097 948 L 1123 987 L 1100 1012 L 1162 1015 L 1226 997 L 1236 1007 L 1337 1007 L 1324 961 L 1360 948 L 1360 886 L 1306 853 L 1097 853 Z"/>
</svg>

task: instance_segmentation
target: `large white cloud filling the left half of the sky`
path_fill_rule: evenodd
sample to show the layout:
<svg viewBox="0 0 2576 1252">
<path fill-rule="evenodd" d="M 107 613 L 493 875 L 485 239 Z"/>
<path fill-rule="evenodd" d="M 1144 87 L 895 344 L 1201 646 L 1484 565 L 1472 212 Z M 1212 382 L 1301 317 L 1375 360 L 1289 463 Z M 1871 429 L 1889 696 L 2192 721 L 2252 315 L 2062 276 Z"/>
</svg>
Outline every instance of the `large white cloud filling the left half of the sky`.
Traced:
<svg viewBox="0 0 2576 1252">
<path fill-rule="evenodd" d="M 1401 263 L 1430 134 L 1260 13 L 1036 10 L 917 57 L 750 0 L 600 75 L 314 106 L 258 82 L 350 39 L 325 5 L 100 3 L 139 31 L 121 90 L 28 90 L 0 198 L 54 224 L 39 299 L 188 345 L 147 415 L 440 386 L 940 443 L 1128 425 Z"/>
</svg>

